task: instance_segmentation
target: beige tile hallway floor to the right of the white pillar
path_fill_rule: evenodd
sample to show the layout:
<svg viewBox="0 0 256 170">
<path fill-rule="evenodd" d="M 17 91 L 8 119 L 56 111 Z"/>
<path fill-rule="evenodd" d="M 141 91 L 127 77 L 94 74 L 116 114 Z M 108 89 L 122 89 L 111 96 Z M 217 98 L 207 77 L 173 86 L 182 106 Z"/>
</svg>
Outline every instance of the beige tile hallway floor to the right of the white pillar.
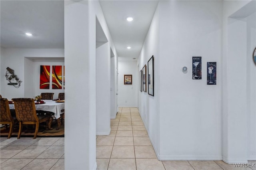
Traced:
<svg viewBox="0 0 256 170">
<path fill-rule="evenodd" d="M 137 108 L 120 107 L 110 125 L 110 135 L 96 136 L 97 170 L 256 170 L 223 161 L 159 161 Z"/>
</svg>

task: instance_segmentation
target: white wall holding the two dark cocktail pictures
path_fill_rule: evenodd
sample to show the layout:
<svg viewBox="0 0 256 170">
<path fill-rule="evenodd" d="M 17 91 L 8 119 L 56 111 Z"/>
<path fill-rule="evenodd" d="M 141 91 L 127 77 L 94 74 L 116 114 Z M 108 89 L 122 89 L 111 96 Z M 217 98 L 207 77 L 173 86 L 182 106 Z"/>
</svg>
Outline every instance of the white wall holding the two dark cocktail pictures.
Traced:
<svg viewBox="0 0 256 170">
<path fill-rule="evenodd" d="M 222 2 L 159 5 L 159 159 L 221 160 Z M 202 80 L 192 79 L 192 56 L 202 57 Z M 208 61 L 217 62 L 217 85 L 206 85 Z"/>
</svg>

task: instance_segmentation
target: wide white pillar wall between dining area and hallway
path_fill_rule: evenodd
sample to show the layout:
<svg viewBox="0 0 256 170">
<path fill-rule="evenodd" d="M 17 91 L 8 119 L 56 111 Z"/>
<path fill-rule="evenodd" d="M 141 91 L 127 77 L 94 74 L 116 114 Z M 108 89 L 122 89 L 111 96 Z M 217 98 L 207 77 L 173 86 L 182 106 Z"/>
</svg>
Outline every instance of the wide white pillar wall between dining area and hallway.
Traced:
<svg viewBox="0 0 256 170">
<path fill-rule="evenodd" d="M 65 1 L 65 169 L 96 169 L 96 16 Z M 76 98 L 74 98 L 76 97 Z M 70 114 L 69 114 L 70 113 Z M 82 132 L 81 134 L 79 134 Z"/>
</svg>

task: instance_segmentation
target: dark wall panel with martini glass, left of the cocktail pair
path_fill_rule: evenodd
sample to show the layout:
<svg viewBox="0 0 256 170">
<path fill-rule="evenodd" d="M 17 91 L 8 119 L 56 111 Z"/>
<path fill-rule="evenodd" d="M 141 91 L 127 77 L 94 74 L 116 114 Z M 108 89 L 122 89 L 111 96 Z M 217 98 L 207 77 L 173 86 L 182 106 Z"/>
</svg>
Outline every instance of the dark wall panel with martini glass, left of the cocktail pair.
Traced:
<svg viewBox="0 0 256 170">
<path fill-rule="evenodd" d="M 192 79 L 202 79 L 202 57 L 192 57 Z"/>
</svg>

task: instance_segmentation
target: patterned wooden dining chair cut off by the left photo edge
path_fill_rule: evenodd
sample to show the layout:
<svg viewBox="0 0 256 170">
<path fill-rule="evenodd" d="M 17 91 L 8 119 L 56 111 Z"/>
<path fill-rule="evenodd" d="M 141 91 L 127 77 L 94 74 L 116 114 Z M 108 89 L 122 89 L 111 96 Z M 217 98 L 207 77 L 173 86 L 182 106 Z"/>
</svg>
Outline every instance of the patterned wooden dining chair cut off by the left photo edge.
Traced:
<svg viewBox="0 0 256 170">
<path fill-rule="evenodd" d="M 18 123 L 18 120 L 16 119 L 16 117 L 12 117 L 8 100 L 6 98 L 2 98 L 2 97 L 0 100 L 1 100 L 0 124 L 6 125 L 5 126 L 6 128 L 7 128 L 7 124 L 10 124 L 10 131 L 9 131 L 9 134 L 7 137 L 9 139 L 12 136 L 14 124 Z"/>
</svg>

